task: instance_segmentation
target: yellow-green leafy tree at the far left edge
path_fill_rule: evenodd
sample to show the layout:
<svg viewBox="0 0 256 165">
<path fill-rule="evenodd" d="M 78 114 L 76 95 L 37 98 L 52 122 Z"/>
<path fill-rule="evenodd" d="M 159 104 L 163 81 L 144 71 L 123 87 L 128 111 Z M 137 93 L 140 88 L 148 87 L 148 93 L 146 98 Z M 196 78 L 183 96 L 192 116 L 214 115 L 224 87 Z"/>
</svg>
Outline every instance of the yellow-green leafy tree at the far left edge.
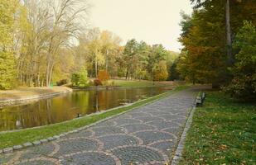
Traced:
<svg viewBox="0 0 256 165">
<path fill-rule="evenodd" d="M 0 2 L 0 89 L 10 89 L 16 78 L 12 31 L 14 31 L 17 6 L 16 0 Z"/>
</svg>

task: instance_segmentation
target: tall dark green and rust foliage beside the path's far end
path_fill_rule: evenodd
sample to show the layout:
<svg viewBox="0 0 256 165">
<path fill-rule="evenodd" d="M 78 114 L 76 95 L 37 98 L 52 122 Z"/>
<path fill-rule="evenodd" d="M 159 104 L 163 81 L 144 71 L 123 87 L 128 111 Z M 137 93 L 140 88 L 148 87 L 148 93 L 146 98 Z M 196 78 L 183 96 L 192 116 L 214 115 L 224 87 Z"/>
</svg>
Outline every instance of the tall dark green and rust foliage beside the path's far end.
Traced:
<svg viewBox="0 0 256 165">
<path fill-rule="evenodd" d="M 212 83 L 220 86 L 230 81 L 229 52 L 226 41 L 226 1 L 191 0 L 195 2 L 191 16 L 181 13 L 181 44 L 184 49 L 177 68 L 181 77 L 190 82 Z M 230 24 L 233 35 L 244 20 L 256 22 L 253 1 L 229 1 Z M 238 12 L 241 11 L 241 12 Z M 236 52 L 233 51 L 233 54 Z M 232 58 L 231 58 L 232 59 Z"/>
</svg>

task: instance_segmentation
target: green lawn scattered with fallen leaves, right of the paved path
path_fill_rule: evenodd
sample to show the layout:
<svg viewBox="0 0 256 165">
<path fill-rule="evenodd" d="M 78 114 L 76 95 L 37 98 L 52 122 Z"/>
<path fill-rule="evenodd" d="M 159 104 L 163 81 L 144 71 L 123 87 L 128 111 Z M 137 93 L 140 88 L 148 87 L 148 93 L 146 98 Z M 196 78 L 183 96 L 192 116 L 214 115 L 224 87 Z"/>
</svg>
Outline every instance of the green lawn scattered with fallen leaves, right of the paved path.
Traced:
<svg viewBox="0 0 256 165">
<path fill-rule="evenodd" d="M 255 164 L 256 105 L 206 92 L 196 108 L 180 164 Z"/>
</svg>

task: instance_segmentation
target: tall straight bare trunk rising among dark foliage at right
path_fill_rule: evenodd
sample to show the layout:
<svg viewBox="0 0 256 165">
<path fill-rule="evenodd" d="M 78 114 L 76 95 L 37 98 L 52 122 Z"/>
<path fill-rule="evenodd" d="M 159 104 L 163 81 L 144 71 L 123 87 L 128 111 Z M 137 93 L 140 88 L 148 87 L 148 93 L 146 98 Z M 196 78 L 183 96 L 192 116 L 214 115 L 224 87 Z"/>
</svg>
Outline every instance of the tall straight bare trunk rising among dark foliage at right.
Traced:
<svg viewBox="0 0 256 165">
<path fill-rule="evenodd" d="M 227 56 L 228 56 L 228 64 L 233 64 L 232 57 L 232 39 L 231 39 L 231 27 L 230 27 L 230 5 L 229 0 L 226 0 L 225 7 L 225 18 L 226 18 L 226 37 L 227 37 Z"/>
</svg>

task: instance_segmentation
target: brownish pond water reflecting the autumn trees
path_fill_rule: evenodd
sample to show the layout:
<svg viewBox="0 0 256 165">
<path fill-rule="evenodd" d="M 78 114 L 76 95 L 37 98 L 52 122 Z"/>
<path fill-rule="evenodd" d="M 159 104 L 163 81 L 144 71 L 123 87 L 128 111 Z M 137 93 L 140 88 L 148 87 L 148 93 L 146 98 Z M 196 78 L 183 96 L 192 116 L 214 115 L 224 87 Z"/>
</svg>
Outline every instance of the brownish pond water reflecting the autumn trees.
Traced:
<svg viewBox="0 0 256 165">
<path fill-rule="evenodd" d="M 152 97 L 170 87 L 75 91 L 59 97 L 0 108 L 0 131 L 31 128 L 71 120 Z"/>
</svg>

